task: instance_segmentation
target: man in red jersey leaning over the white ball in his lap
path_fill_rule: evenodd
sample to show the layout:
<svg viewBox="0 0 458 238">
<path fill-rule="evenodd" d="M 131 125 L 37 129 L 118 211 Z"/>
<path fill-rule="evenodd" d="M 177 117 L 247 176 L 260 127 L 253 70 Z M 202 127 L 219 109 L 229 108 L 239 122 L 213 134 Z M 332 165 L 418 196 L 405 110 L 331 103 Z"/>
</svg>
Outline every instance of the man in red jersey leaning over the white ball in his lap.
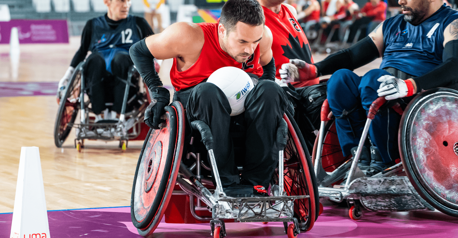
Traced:
<svg viewBox="0 0 458 238">
<path fill-rule="evenodd" d="M 276 131 L 289 101 L 274 82 L 271 46 L 272 33 L 264 26 L 261 5 L 256 0 L 228 0 L 218 23 L 177 22 L 130 50 L 136 68 L 153 92 L 145 112 L 145 122 L 152 128 L 158 128 L 164 106 L 169 104 L 169 90 L 162 87 L 153 58 L 174 58 L 170 71 L 174 100 L 183 103 L 189 122 L 201 120 L 211 128 L 218 145 L 213 149 L 218 172 L 228 196 L 255 196 L 253 186 L 267 187 L 277 164 Z M 231 107 L 223 91 L 205 82 L 225 66 L 259 77 L 245 99 L 245 112 L 237 116 L 230 116 Z M 229 135 L 234 127 L 246 133 L 241 176 Z"/>
</svg>

